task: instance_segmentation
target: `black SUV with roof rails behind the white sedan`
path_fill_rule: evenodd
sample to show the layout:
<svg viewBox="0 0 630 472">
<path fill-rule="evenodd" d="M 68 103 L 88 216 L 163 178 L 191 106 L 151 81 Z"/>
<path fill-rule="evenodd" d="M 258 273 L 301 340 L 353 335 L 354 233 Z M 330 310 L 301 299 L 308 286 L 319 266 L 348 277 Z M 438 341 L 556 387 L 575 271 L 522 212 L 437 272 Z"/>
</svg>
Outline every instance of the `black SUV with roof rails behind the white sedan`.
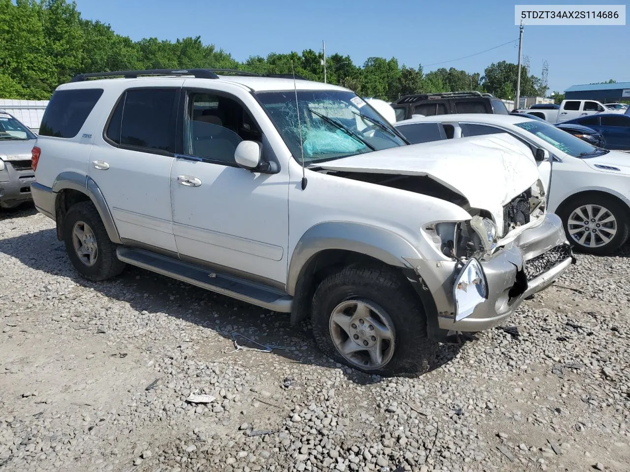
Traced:
<svg viewBox="0 0 630 472">
<path fill-rule="evenodd" d="M 405 95 L 392 103 L 396 121 L 412 115 L 452 115 L 454 113 L 495 113 L 507 115 L 505 104 L 489 93 L 446 92 Z"/>
</svg>

